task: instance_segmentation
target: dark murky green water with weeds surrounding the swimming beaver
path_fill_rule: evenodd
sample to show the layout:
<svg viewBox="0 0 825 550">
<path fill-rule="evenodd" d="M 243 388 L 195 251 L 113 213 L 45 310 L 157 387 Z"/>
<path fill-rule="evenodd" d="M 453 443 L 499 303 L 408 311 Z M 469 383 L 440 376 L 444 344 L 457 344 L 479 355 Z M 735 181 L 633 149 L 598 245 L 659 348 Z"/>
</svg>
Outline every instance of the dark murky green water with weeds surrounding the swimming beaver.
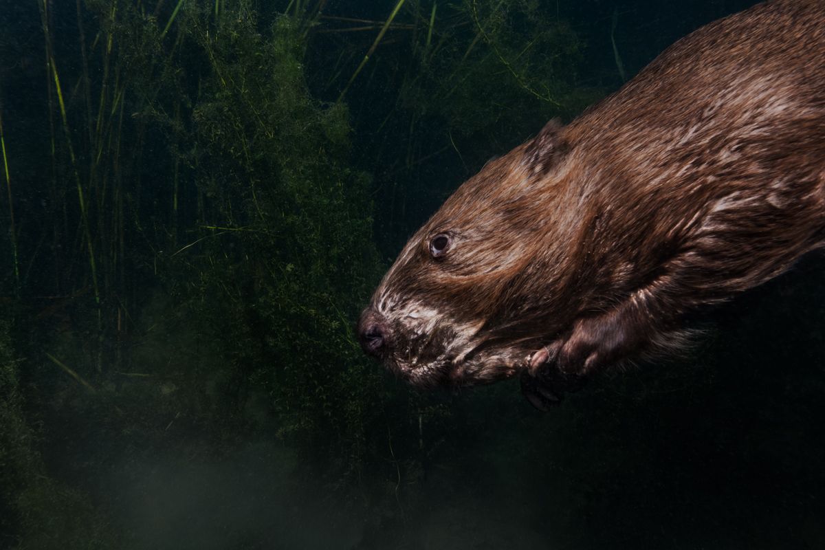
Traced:
<svg viewBox="0 0 825 550">
<path fill-rule="evenodd" d="M 0 547 L 822 548 L 822 255 L 546 414 L 353 338 L 488 158 L 752 3 L 0 2 Z"/>
</svg>

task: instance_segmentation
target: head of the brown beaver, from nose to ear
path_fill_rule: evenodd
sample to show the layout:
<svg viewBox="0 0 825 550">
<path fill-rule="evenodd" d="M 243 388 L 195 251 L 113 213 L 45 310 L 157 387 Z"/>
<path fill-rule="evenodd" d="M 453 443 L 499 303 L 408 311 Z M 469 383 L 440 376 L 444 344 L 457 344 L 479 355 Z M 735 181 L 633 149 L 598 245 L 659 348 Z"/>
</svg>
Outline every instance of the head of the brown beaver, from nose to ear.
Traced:
<svg viewBox="0 0 825 550">
<path fill-rule="evenodd" d="M 536 297 L 562 286 L 551 242 L 571 225 L 572 213 L 553 209 L 567 153 L 551 121 L 464 182 L 409 240 L 361 314 L 364 350 L 419 387 L 488 383 L 523 369 L 563 321 L 547 319 L 559 308 Z"/>
</svg>

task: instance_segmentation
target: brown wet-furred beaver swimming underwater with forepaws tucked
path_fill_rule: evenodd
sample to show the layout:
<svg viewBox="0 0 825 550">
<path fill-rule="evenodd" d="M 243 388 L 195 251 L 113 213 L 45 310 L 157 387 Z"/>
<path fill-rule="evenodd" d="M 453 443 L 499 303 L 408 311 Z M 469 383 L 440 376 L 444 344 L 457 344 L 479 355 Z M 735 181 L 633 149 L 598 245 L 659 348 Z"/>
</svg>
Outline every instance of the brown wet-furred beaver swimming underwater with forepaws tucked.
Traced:
<svg viewBox="0 0 825 550">
<path fill-rule="evenodd" d="M 409 239 L 361 346 L 422 388 L 536 407 L 672 353 L 686 316 L 825 245 L 825 2 L 764 2 L 488 162 Z"/>
</svg>

